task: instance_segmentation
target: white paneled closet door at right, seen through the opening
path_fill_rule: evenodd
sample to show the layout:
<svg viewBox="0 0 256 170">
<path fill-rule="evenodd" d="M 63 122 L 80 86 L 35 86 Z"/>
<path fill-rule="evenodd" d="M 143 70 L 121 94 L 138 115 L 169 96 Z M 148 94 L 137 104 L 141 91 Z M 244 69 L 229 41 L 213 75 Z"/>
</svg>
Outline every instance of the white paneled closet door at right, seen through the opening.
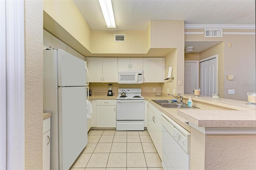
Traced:
<svg viewBox="0 0 256 170">
<path fill-rule="evenodd" d="M 200 62 L 200 88 L 203 96 L 217 93 L 216 57 Z"/>
</svg>

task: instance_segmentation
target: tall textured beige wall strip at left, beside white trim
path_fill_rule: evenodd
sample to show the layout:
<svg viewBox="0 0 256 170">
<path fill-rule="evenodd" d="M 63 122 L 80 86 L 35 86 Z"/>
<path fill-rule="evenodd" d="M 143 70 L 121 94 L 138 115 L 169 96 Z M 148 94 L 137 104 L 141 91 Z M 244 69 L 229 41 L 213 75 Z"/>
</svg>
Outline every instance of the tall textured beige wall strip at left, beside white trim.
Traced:
<svg viewBox="0 0 256 170">
<path fill-rule="evenodd" d="M 43 2 L 24 2 L 25 11 L 25 169 L 42 169 Z"/>
</svg>

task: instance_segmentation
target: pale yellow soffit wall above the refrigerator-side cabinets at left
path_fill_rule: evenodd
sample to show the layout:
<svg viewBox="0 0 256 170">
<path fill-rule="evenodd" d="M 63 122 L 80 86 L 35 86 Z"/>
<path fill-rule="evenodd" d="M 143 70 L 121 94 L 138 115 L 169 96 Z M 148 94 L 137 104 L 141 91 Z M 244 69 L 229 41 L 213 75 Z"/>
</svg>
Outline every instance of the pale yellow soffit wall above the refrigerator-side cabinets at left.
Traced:
<svg viewBox="0 0 256 170">
<path fill-rule="evenodd" d="M 44 11 L 91 50 L 91 29 L 72 0 L 44 0 Z"/>
</svg>

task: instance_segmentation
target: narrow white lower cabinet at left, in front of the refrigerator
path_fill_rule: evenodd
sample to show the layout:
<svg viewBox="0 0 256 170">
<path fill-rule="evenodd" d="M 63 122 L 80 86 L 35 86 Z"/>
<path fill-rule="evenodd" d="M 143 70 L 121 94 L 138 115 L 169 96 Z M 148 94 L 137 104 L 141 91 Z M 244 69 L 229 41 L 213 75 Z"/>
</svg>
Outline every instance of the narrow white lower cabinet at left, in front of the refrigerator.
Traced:
<svg viewBox="0 0 256 170">
<path fill-rule="evenodd" d="M 50 170 L 51 118 L 43 120 L 43 170 Z"/>
</svg>

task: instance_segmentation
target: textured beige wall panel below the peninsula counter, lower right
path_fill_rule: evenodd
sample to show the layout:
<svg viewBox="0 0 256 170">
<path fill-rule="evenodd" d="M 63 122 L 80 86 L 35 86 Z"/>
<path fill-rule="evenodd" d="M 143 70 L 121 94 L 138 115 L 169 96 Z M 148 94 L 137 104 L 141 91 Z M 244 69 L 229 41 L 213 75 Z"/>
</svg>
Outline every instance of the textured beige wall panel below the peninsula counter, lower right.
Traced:
<svg viewBox="0 0 256 170">
<path fill-rule="evenodd" d="M 206 135 L 206 170 L 253 170 L 256 135 Z"/>
</svg>

